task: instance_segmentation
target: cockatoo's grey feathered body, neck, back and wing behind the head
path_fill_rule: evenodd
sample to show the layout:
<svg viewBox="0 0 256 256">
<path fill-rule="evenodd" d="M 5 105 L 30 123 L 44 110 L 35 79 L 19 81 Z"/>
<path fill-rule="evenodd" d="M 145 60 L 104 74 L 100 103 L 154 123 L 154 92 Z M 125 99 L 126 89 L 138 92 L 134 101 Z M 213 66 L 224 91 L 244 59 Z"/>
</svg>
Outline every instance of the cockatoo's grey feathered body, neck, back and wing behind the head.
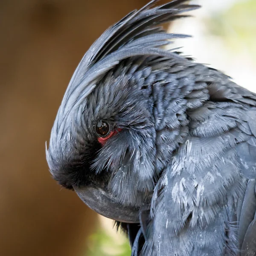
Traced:
<svg viewBox="0 0 256 256">
<path fill-rule="evenodd" d="M 255 255 L 256 94 L 189 59 L 147 65 L 163 172 L 141 255 Z"/>
</svg>

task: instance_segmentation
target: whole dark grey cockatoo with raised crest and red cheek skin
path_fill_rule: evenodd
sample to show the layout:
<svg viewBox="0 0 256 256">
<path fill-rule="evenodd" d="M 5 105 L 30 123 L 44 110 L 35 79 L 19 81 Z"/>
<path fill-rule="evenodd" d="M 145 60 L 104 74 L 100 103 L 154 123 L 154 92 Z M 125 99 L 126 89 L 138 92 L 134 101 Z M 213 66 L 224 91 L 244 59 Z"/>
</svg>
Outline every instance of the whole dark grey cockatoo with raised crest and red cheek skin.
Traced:
<svg viewBox="0 0 256 256">
<path fill-rule="evenodd" d="M 198 6 L 156 2 L 82 58 L 52 128 L 50 172 L 116 220 L 133 255 L 256 255 L 256 94 L 165 50 L 185 35 L 159 25 Z"/>
</svg>

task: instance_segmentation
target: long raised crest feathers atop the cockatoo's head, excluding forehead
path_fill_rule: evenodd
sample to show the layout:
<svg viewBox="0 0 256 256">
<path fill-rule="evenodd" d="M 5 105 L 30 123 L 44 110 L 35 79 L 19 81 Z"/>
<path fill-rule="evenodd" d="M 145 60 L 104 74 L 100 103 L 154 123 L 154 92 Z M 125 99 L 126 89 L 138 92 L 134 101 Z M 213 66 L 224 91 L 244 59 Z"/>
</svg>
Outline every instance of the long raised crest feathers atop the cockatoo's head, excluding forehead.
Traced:
<svg viewBox="0 0 256 256">
<path fill-rule="evenodd" d="M 167 55 L 168 57 L 167 51 L 159 51 L 159 47 L 171 43 L 168 41 L 170 39 L 186 37 L 186 35 L 168 34 L 160 25 L 188 17 L 181 14 L 198 9 L 200 6 L 184 4 L 186 0 L 173 0 L 152 8 L 157 2 L 158 0 L 152 0 L 139 11 L 129 13 L 94 42 L 79 63 L 64 100 L 67 101 L 72 94 L 74 98 L 77 95 L 81 96 L 83 91 L 85 92 L 83 94 L 88 95 L 94 88 L 91 82 L 100 79 L 124 58 L 134 55 Z M 86 88 L 89 84 L 90 88 Z M 68 101 L 70 103 L 70 100 Z"/>
</svg>

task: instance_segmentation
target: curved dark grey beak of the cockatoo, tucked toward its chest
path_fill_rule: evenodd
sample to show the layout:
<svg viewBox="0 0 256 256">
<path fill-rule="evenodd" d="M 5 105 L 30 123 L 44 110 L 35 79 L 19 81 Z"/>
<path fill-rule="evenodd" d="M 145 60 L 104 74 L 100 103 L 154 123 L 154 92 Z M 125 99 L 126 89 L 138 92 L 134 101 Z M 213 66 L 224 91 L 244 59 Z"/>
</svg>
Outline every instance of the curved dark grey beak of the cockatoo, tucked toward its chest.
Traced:
<svg viewBox="0 0 256 256">
<path fill-rule="evenodd" d="M 108 191 L 92 186 L 73 186 L 79 198 L 93 211 L 115 221 L 139 223 L 139 211 L 136 207 L 116 203 Z"/>
</svg>

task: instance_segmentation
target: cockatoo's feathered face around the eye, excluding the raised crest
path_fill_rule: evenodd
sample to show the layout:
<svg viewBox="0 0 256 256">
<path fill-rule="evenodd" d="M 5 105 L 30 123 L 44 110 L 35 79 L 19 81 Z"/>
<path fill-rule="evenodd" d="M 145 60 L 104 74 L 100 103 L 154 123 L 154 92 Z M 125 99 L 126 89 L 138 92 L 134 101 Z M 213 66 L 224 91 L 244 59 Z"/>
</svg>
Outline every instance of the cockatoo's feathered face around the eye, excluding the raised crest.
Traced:
<svg viewBox="0 0 256 256">
<path fill-rule="evenodd" d="M 97 202 L 106 207 L 108 198 L 106 204 L 139 207 L 155 182 L 154 123 L 145 89 L 120 71 L 100 79 L 78 105 L 67 101 L 47 151 L 55 180 L 75 189 L 87 204 L 90 193 L 94 206 L 89 206 L 103 215 L 108 213 L 95 208 Z"/>
</svg>

